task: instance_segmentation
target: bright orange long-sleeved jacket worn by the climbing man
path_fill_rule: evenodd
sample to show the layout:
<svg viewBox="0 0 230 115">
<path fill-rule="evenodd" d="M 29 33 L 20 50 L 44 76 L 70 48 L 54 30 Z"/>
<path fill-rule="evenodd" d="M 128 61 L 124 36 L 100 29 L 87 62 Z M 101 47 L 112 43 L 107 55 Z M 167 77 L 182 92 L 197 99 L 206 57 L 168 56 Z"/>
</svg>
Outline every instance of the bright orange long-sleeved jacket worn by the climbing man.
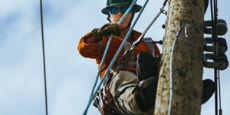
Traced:
<svg viewBox="0 0 230 115">
<path fill-rule="evenodd" d="M 105 51 L 105 48 L 104 48 L 103 52 L 100 51 L 100 47 L 99 47 L 100 41 L 95 42 L 95 43 L 86 43 L 85 39 L 90 35 L 92 35 L 91 32 L 86 34 L 85 36 L 83 36 L 81 38 L 79 45 L 78 45 L 78 51 L 83 57 L 96 59 L 96 63 L 98 64 L 98 68 L 99 68 L 103 54 L 104 54 L 104 51 Z M 135 41 L 139 38 L 141 33 L 133 30 L 131 35 L 133 36 L 134 41 Z M 102 39 L 102 42 L 103 42 L 105 47 L 107 45 L 108 40 L 109 40 L 109 36 L 103 37 L 103 39 Z M 113 57 L 115 56 L 115 54 L 116 54 L 116 52 L 117 52 L 117 50 L 120 47 L 122 42 L 123 42 L 123 40 L 120 37 L 113 36 L 110 47 L 109 47 L 108 52 L 107 52 L 105 62 L 104 62 L 102 69 L 101 69 L 101 73 L 100 73 L 101 79 L 102 79 L 104 73 L 106 72 L 106 69 L 108 68 L 110 62 L 112 61 Z M 132 41 L 128 41 L 128 42 L 133 44 Z M 154 45 L 154 49 L 155 49 L 155 56 L 160 56 L 161 54 L 160 54 L 160 51 L 159 51 L 157 45 L 156 44 L 153 44 L 153 45 Z M 147 44 L 144 41 L 141 41 L 139 43 L 139 45 L 133 50 L 135 60 L 137 59 L 137 55 L 141 51 L 147 51 L 147 52 L 151 53 L 149 47 L 147 46 Z M 125 52 L 125 49 L 123 47 L 121 52 L 119 53 L 116 61 L 114 62 L 114 65 L 116 65 L 118 63 L 120 57 L 122 57 L 124 52 Z M 127 69 L 127 70 L 131 70 L 134 72 L 136 71 L 136 68 L 123 67 L 122 69 Z"/>
</svg>

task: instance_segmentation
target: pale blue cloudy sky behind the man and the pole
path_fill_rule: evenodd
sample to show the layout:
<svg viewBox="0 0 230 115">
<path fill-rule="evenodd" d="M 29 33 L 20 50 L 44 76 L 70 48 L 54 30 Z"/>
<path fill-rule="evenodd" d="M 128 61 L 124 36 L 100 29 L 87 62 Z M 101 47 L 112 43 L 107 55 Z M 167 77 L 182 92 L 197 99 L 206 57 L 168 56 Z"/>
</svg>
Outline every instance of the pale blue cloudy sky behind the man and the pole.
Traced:
<svg viewBox="0 0 230 115">
<path fill-rule="evenodd" d="M 97 65 L 79 55 L 80 38 L 107 23 L 100 11 L 106 0 L 44 0 L 44 37 L 49 115 L 81 115 L 88 102 Z M 142 5 L 144 1 L 139 0 Z M 143 32 L 163 1 L 150 0 L 135 30 Z M 219 18 L 230 22 L 230 1 L 219 1 Z M 45 115 L 39 0 L 0 0 L 0 114 Z M 165 8 L 167 10 L 167 8 Z M 161 40 L 161 15 L 146 36 Z M 205 20 L 210 20 L 210 8 Z M 228 26 L 229 27 L 229 26 Z M 209 36 L 209 35 L 205 35 Z M 227 42 L 229 32 L 222 36 Z M 229 42 L 228 42 L 229 45 Z M 160 50 L 161 45 L 158 45 Z M 229 45 L 230 46 L 230 45 Z M 229 51 L 226 52 L 230 56 Z M 222 109 L 229 115 L 229 68 L 221 71 Z M 203 79 L 213 79 L 204 68 Z M 202 105 L 201 115 L 214 115 L 214 98 Z M 99 115 L 90 107 L 88 115 Z"/>
</svg>

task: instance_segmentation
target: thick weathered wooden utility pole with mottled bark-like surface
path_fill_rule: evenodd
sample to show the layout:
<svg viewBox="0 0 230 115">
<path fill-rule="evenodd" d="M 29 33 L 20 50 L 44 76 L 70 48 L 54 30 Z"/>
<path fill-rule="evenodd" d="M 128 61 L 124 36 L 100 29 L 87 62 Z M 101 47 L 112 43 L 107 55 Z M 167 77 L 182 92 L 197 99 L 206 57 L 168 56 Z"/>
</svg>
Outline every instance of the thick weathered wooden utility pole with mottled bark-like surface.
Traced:
<svg viewBox="0 0 230 115">
<path fill-rule="evenodd" d="M 170 56 L 179 31 L 179 23 L 186 23 L 176 41 L 172 58 L 172 94 L 170 94 Z M 203 0 L 169 0 L 161 69 L 154 115 L 199 115 L 202 99 L 203 75 Z M 172 95 L 170 106 L 170 95 Z M 170 107 L 170 109 L 169 109 Z M 171 112 L 170 112 L 171 111 Z M 170 114 L 169 114 L 170 112 Z"/>
</svg>

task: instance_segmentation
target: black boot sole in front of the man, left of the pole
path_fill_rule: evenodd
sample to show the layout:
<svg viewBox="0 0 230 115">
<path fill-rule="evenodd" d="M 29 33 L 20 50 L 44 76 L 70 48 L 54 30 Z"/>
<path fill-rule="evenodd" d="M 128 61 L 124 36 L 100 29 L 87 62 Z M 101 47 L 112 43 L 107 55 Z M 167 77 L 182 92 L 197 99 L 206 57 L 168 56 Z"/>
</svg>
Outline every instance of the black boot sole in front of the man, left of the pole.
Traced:
<svg viewBox="0 0 230 115">
<path fill-rule="evenodd" d="M 143 88 L 137 96 L 140 109 L 148 111 L 155 105 L 158 81 L 158 66 L 153 56 L 148 52 L 140 52 L 137 56 L 137 76 L 139 81 L 153 79 L 154 82 Z"/>
</svg>

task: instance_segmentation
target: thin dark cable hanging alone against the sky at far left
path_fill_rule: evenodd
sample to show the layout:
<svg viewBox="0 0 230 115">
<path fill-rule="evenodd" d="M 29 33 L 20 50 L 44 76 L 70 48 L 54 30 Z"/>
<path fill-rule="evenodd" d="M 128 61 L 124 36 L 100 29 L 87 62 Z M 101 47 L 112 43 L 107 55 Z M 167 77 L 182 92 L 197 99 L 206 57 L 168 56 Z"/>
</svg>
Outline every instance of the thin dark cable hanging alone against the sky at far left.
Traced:
<svg viewBox="0 0 230 115">
<path fill-rule="evenodd" d="M 44 45 L 44 32 L 43 32 L 43 15 L 42 15 L 42 0 L 40 0 L 40 14 L 41 14 L 41 34 L 42 34 L 43 68 L 44 68 L 45 106 L 46 106 L 46 115 L 48 115 L 47 88 L 46 88 L 45 45 Z"/>
</svg>

